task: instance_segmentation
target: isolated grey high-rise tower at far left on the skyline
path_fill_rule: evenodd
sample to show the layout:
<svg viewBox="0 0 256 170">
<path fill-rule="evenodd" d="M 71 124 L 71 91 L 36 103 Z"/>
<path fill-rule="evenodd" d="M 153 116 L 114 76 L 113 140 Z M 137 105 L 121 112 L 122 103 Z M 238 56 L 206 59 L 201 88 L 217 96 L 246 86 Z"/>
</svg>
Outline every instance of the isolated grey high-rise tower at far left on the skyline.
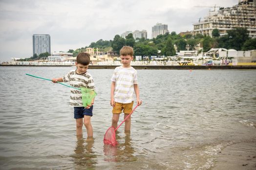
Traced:
<svg viewBox="0 0 256 170">
<path fill-rule="evenodd" d="M 44 52 L 51 53 L 51 37 L 49 34 L 33 34 L 33 55 Z"/>
</svg>

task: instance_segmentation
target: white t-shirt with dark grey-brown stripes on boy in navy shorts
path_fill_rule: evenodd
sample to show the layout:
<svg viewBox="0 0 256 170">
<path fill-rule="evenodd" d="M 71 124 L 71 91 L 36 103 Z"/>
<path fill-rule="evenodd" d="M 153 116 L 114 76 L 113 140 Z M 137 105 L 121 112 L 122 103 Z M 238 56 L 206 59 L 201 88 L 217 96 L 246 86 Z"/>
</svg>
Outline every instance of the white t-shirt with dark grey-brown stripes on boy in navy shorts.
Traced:
<svg viewBox="0 0 256 170">
<path fill-rule="evenodd" d="M 95 90 L 92 76 L 86 71 L 83 74 L 76 73 L 76 70 L 69 71 L 63 78 L 64 82 L 69 82 L 70 86 L 80 88 L 86 87 Z M 70 88 L 69 105 L 73 107 L 82 107 L 82 92 L 75 88 Z"/>
</svg>

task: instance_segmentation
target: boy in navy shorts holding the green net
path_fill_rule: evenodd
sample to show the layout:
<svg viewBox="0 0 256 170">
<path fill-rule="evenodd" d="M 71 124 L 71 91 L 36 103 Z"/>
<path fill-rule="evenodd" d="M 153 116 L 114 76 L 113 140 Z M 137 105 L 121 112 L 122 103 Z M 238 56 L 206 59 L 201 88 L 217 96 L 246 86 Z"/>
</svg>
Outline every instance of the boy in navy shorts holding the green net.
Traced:
<svg viewBox="0 0 256 170">
<path fill-rule="evenodd" d="M 76 69 L 70 70 L 64 77 L 52 79 L 53 83 L 70 82 L 70 85 L 76 88 L 86 87 L 95 90 L 92 76 L 87 72 L 90 63 L 90 54 L 81 52 L 76 58 Z M 91 125 L 92 109 L 94 99 L 91 105 L 83 106 L 81 90 L 75 88 L 70 89 L 70 106 L 74 107 L 74 119 L 76 119 L 76 135 L 83 136 L 83 122 L 87 131 L 87 136 L 93 136 Z M 84 118 L 84 121 L 83 121 Z"/>
</svg>

